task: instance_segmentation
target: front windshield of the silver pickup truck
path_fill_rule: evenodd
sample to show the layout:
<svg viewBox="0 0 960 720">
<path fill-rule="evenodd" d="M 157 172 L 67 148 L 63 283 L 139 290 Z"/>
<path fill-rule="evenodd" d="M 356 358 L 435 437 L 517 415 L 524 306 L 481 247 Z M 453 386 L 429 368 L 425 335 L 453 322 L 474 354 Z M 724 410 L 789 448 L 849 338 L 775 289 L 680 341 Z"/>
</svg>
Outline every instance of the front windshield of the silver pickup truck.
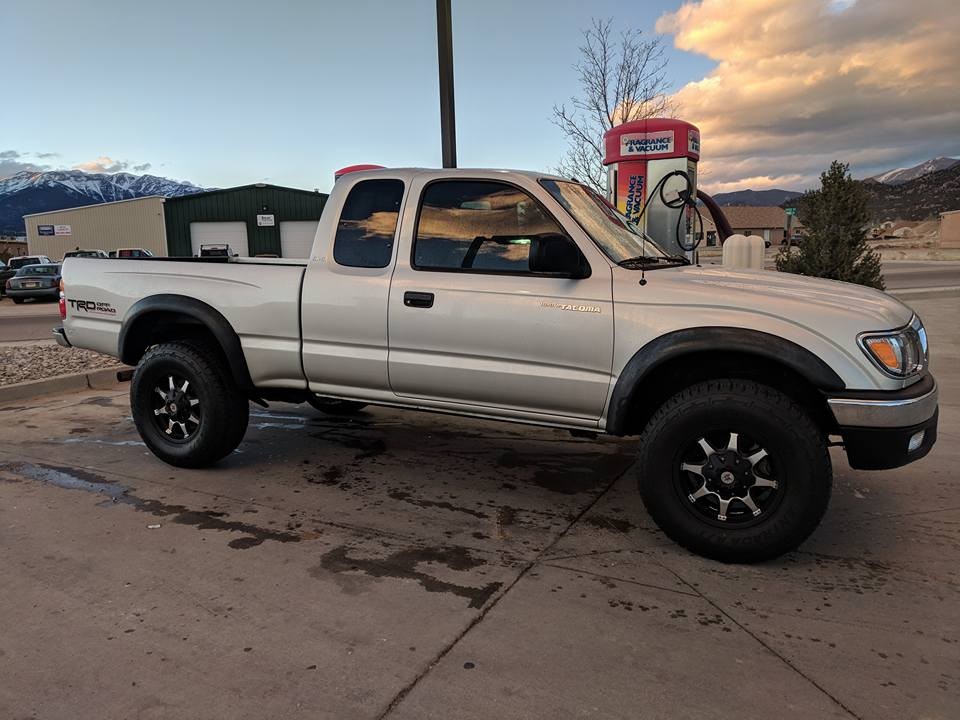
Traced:
<svg viewBox="0 0 960 720">
<path fill-rule="evenodd" d="M 615 263 L 637 257 L 663 258 L 667 253 L 603 198 L 578 182 L 541 180 L 558 203 Z"/>
</svg>

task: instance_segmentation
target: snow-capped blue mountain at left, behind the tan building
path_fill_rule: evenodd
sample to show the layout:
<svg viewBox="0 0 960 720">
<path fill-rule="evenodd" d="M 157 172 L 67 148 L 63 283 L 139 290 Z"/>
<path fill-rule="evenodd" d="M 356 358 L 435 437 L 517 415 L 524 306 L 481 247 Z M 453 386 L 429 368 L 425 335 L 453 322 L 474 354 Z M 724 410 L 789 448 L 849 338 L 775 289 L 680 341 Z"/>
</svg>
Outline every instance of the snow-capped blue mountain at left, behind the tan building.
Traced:
<svg viewBox="0 0 960 720">
<path fill-rule="evenodd" d="M 30 213 L 130 200 L 146 195 L 178 197 L 205 188 L 156 175 L 87 173 L 82 170 L 19 172 L 0 179 L 0 232 L 24 230 Z"/>
</svg>

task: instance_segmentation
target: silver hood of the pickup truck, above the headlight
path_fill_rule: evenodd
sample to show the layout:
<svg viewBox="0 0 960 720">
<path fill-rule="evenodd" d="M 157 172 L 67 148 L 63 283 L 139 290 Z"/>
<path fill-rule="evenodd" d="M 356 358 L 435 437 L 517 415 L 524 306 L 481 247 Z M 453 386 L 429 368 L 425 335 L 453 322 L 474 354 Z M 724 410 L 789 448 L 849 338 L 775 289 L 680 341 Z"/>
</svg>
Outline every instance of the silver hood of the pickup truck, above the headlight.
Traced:
<svg viewBox="0 0 960 720">
<path fill-rule="evenodd" d="M 641 290 L 655 289 L 662 281 L 671 286 L 671 294 L 677 292 L 690 303 L 758 310 L 795 320 L 811 314 L 856 318 L 862 330 L 893 330 L 906 325 L 913 315 L 909 307 L 879 290 L 770 270 L 689 266 L 647 272 L 647 280 L 649 284 Z M 639 293 L 636 297 L 641 300 Z"/>
</svg>

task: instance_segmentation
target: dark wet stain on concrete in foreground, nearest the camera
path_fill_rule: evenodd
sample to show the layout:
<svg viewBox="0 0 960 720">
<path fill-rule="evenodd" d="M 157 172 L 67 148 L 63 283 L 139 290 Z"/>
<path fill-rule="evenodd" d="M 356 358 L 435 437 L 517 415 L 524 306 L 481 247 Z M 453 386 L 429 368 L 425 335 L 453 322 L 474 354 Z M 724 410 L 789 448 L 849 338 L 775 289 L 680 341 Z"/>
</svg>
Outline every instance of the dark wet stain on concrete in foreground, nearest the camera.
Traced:
<svg viewBox="0 0 960 720">
<path fill-rule="evenodd" d="M 493 594 L 500 589 L 503 583 L 487 583 L 482 587 L 457 585 L 456 583 L 439 580 L 425 572 L 416 569 L 420 563 L 440 563 L 451 570 L 471 570 L 485 565 L 486 561 L 474 558 L 470 551 L 463 547 L 428 547 L 400 550 L 385 558 L 354 558 L 350 557 L 349 548 L 340 546 L 325 553 L 320 564 L 310 570 L 313 577 L 321 578 L 324 571 L 332 573 L 361 572 L 370 577 L 399 578 L 402 580 L 416 580 L 427 592 L 450 593 L 470 601 L 472 608 L 481 608 Z"/>
</svg>

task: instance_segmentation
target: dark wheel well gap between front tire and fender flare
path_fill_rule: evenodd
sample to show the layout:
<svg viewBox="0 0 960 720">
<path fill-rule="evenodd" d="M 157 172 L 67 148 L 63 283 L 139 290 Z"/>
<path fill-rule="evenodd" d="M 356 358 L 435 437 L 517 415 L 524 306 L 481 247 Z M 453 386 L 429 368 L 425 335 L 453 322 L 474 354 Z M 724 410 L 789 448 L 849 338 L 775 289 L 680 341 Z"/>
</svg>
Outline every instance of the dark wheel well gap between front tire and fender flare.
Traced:
<svg viewBox="0 0 960 720">
<path fill-rule="evenodd" d="M 736 351 L 693 352 L 666 360 L 647 372 L 630 397 L 624 435 L 638 435 L 668 398 L 705 380 L 754 380 L 773 387 L 804 408 L 825 435 L 837 425 L 823 393 L 809 380 L 776 360 Z"/>
</svg>

